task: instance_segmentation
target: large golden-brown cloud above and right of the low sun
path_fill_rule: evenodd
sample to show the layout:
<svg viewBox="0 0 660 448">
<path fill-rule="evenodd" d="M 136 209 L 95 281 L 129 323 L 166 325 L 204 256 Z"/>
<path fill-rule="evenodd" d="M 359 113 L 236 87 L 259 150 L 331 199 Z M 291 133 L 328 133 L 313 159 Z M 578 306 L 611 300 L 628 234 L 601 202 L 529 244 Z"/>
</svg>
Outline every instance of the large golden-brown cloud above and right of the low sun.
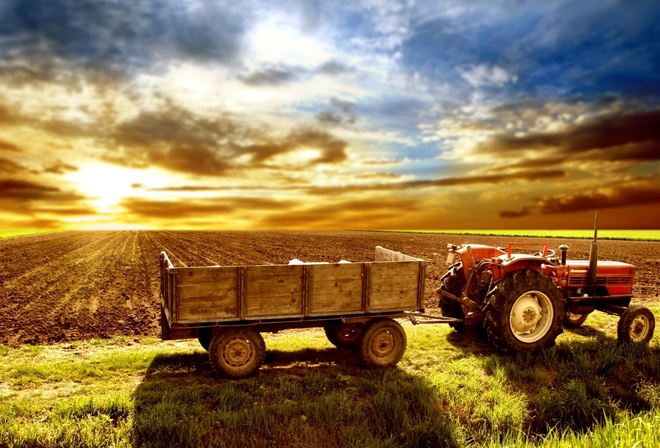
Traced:
<svg viewBox="0 0 660 448">
<path fill-rule="evenodd" d="M 264 168 L 277 155 L 308 148 L 320 151 L 309 165 L 347 159 L 347 143 L 325 131 L 300 128 L 275 138 L 268 129 L 253 128 L 228 116 L 203 117 L 172 104 L 143 111 L 106 132 L 106 146 L 118 148 L 108 151 L 107 161 L 139 168 L 155 165 L 190 174 L 220 175 Z M 245 154 L 250 160 L 238 163 L 236 159 Z"/>
</svg>

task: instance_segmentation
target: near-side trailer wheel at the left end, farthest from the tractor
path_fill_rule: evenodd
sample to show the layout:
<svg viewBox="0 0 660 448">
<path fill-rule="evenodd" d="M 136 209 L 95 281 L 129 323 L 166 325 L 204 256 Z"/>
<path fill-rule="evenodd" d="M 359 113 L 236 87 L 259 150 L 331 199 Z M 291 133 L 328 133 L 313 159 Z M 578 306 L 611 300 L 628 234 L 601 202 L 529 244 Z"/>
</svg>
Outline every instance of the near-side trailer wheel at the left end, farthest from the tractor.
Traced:
<svg viewBox="0 0 660 448">
<path fill-rule="evenodd" d="M 216 332 L 209 347 L 209 359 L 215 371 L 232 379 L 253 375 L 265 357 L 264 339 L 248 328 Z"/>
</svg>

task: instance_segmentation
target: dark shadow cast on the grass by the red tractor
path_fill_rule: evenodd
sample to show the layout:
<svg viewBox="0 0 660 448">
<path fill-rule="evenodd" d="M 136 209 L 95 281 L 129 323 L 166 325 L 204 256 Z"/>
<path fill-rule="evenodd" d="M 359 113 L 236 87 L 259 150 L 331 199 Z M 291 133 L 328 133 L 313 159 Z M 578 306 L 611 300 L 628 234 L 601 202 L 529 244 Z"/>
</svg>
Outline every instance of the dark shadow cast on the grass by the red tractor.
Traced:
<svg viewBox="0 0 660 448">
<path fill-rule="evenodd" d="M 482 358 L 487 375 L 524 395 L 523 430 L 534 436 L 550 430 L 585 433 L 616 421 L 623 410 L 637 414 L 660 406 L 657 339 L 650 346 L 620 344 L 616 335 L 589 325 L 564 334 L 569 337 L 560 335 L 556 345 L 534 354 L 501 353 L 482 331 L 452 331 L 447 341 Z"/>
</svg>

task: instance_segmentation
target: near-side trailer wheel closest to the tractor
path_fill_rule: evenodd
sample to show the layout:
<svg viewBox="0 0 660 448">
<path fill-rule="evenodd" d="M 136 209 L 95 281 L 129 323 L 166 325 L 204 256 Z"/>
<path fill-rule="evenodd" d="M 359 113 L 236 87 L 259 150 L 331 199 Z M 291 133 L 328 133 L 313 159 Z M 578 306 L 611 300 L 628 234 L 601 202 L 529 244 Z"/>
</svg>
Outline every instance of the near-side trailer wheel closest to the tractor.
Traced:
<svg viewBox="0 0 660 448">
<path fill-rule="evenodd" d="M 406 351 L 406 332 L 395 320 L 370 322 L 360 339 L 362 362 L 375 369 L 395 366 Z"/>
</svg>

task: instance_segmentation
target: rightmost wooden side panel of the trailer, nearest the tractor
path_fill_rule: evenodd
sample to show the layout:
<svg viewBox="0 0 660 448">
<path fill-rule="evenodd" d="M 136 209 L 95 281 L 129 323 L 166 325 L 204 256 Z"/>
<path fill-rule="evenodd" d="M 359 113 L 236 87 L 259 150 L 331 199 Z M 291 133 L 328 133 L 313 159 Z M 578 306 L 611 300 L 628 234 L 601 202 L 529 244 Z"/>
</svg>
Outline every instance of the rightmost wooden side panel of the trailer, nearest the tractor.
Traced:
<svg viewBox="0 0 660 448">
<path fill-rule="evenodd" d="M 372 263 L 369 311 L 417 309 L 419 262 Z"/>
</svg>

